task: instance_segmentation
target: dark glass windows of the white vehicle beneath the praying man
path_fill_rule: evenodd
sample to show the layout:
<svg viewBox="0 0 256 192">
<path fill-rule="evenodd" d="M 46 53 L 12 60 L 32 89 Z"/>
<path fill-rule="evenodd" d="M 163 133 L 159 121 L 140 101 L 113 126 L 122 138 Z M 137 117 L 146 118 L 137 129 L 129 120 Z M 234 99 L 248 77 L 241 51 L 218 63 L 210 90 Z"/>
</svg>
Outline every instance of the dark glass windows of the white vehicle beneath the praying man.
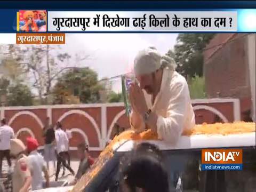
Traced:
<svg viewBox="0 0 256 192">
<path fill-rule="evenodd" d="M 201 171 L 201 149 L 165 150 L 164 164 L 169 174 L 170 192 L 251 192 L 256 188 L 256 151 L 243 148 L 242 171 Z M 118 154 L 119 162 L 127 153 Z M 116 155 L 115 155 L 116 156 Z M 101 191 L 119 191 L 119 164 L 101 177 Z M 98 188 L 99 189 L 99 188 Z M 103 190 L 104 189 L 104 190 Z M 99 190 L 98 190 L 99 191 Z"/>
</svg>

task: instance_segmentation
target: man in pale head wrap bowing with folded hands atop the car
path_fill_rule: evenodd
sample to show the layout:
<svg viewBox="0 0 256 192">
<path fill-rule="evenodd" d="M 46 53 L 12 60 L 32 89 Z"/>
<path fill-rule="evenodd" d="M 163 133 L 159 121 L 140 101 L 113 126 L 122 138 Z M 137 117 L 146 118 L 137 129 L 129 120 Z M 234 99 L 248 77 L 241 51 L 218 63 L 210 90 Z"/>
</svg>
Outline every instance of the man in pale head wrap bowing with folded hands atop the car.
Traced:
<svg viewBox="0 0 256 192">
<path fill-rule="evenodd" d="M 137 131 L 157 132 L 159 139 L 175 145 L 183 130 L 195 126 L 186 79 L 175 71 L 175 61 L 155 47 L 138 53 L 134 74 L 138 82 L 129 88 L 130 122 Z"/>
</svg>

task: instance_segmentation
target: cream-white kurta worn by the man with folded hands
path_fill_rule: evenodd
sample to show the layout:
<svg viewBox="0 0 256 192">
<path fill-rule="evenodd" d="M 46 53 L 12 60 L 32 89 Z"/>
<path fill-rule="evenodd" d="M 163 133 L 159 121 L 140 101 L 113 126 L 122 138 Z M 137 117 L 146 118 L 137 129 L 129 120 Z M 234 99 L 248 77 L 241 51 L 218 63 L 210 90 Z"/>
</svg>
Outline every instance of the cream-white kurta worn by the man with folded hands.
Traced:
<svg viewBox="0 0 256 192">
<path fill-rule="evenodd" d="M 176 71 L 164 69 L 161 89 L 154 105 L 151 103 L 151 95 L 145 91 L 144 94 L 147 106 L 158 116 L 159 139 L 175 144 L 183 130 L 195 126 L 187 81 Z"/>
</svg>

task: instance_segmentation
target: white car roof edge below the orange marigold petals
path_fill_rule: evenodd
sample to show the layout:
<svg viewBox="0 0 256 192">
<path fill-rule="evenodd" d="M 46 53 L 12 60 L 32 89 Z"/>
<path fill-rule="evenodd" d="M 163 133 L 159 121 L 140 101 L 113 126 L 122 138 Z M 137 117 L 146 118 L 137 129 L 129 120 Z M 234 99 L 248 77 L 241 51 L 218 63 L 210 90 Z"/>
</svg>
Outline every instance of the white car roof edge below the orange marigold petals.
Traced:
<svg viewBox="0 0 256 192">
<path fill-rule="evenodd" d="M 201 148 L 225 148 L 225 147 L 250 147 L 255 146 L 255 132 L 230 135 L 192 135 L 190 137 L 181 136 L 177 145 L 166 143 L 160 140 L 147 141 L 120 141 L 113 146 L 118 152 L 131 151 L 135 142 L 150 142 L 161 150 L 175 149 L 201 149 Z"/>
</svg>

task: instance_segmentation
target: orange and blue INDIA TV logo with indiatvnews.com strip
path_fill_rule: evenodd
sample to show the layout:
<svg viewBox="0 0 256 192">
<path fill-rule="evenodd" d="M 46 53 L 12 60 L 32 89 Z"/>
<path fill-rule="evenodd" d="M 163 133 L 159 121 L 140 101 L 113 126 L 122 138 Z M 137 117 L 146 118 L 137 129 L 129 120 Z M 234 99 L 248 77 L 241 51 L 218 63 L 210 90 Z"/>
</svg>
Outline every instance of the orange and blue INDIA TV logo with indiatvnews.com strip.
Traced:
<svg viewBox="0 0 256 192">
<path fill-rule="evenodd" d="M 202 149 L 202 170 L 243 170 L 242 149 Z"/>
</svg>

